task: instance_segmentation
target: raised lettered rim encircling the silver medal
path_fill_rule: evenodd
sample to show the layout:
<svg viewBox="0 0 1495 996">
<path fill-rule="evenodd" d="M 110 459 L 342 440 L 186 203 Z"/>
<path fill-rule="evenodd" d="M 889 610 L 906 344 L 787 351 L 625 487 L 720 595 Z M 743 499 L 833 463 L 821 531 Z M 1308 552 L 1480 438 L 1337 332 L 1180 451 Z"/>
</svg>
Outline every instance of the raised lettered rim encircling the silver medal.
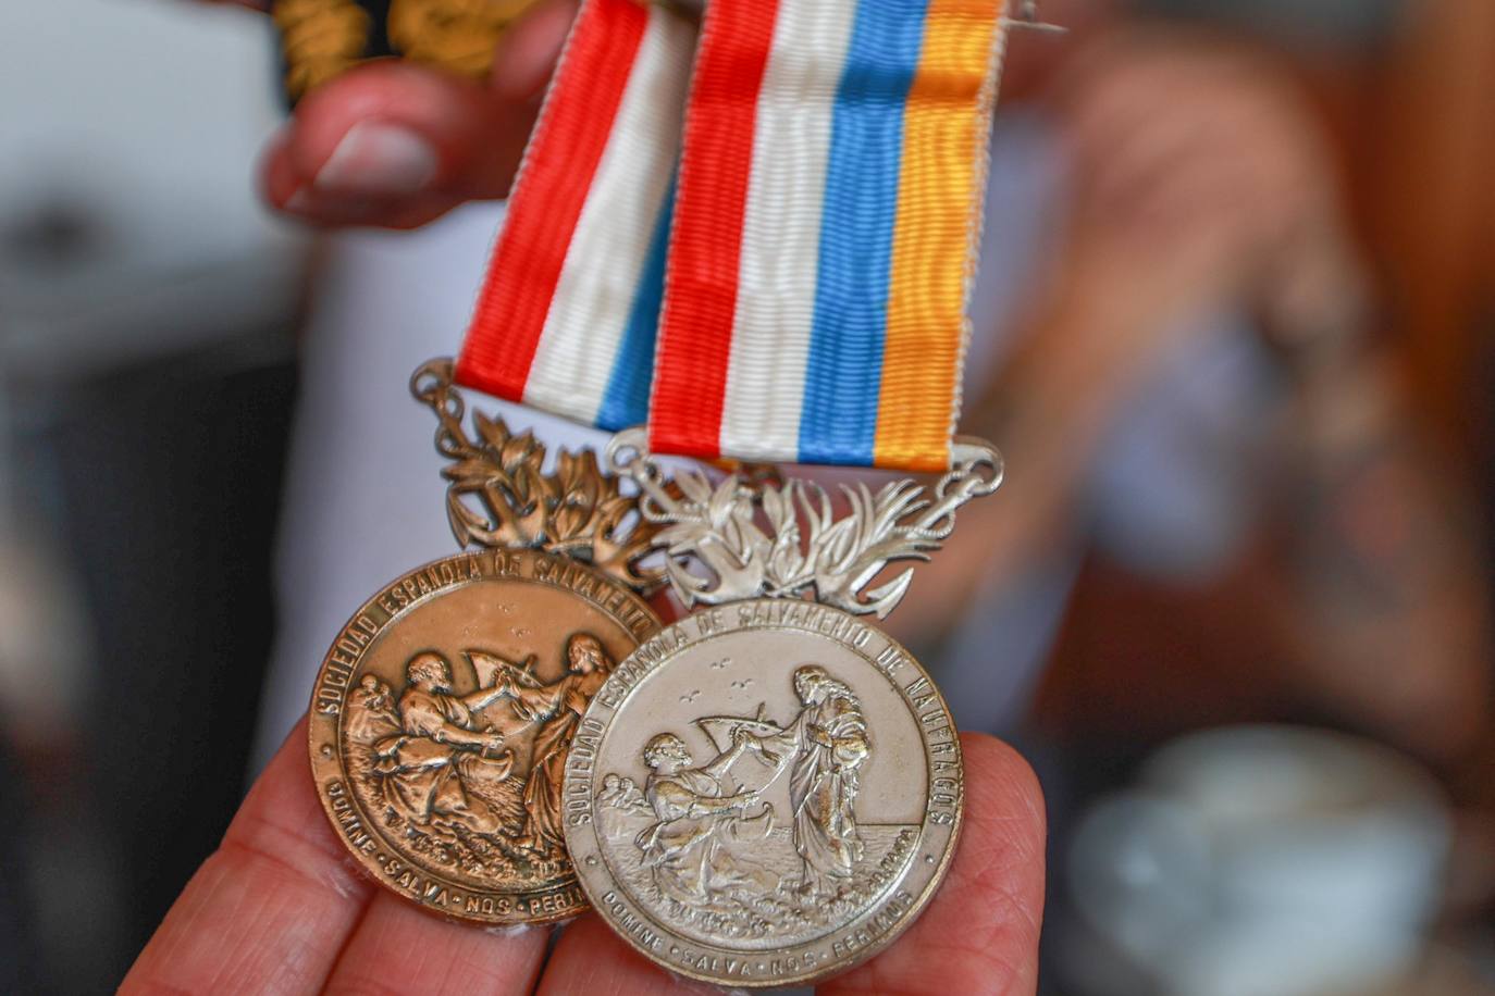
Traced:
<svg viewBox="0 0 1495 996">
<path fill-rule="evenodd" d="M 758 599 L 745 599 L 743 602 L 731 603 L 731 606 L 718 606 L 718 608 L 737 608 L 737 606 L 742 606 L 742 605 L 755 605 L 755 603 L 767 603 L 767 605 L 783 606 L 786 603 L 798 603 L 798 602 L 800 602 L 798 599 L 758 597 Z M 836 612 L 839 615 L 846 615 L 848 618 L 860 623 L 860 620 L 857 620 L 857 617 L 852 617 L 851 614 L 843 612 L 842 609 L 836 609 L 833 606 L 825 606 L 825 605 L 816 605 L 816 603 L 807 602 L 807 600 L 803 602 L 803 603 L 806 606 L 815 606 L 815 608 L 819 608 L 819 609 L 824 609 L 824 611 Z M 706 609 L 706 611 L 710 611 L 710 609 Z M 670 630 L 673 627 L 679 627 L 682 624 L 686 624 L 691 620 L 697 618 L 697 615 L 700 615 L 700 612 L 682 617 L 680 620 L 676 620 L 673 623 L 667 623 L 662 627 L 661 632 L 667 632 L 667 630 Z M 632 699 L 640 691 L 640 688 L 643 688 L 643 685 L 646 685 L 649 682 L 650 676 L 653 676 L 655 673 L 658 673 L 659 670 L 662 670 L 668 664 L 668 659 L 670 657 L 673 657 L 676 654 L 680 654 L 680 653 L 683 653 L 686 650 L 691 650 L 692 647 L 695 647 L 698 644 L 703 644 L 703 642 L 707 642 L 710 639 L 727 636 L 730 633 L 749 633 L 749 632 L 761 630 L 761 629 L 804 629 L 806 632 L 816 633 L 819 636 L 824 636 L 825 639 L 831 639 L 825 633 L 818 633 L 813 629 L 797 627 L 797 626 L 786 624 L 786 623 L 746 624 L 746 626 L 739 626 L 739 627 L 734 627 L 734 629 L 730 629 L 730 630 L 725 630 L 725 632 L 718 630 L 718 632 L 710 632 L 710 633 L 703 633 L 697 627 L 695 633 L 689 639 L 686 639 L 685 642 L 679 644 L 674 650 L 671 650 L 664 660 L 661 660 L 659 663 L 655 663 L 652 666 L 646 666 L 643 676 L 638 678 L 637 681 L 634 681 L 631 685 L 628 685 L 626 690 L 623 690 L 623 693 L 620 696 L 617 696 L 616 699 L 613 699 L 611 705 L 607 705 L 607 703 L 602 702 L 602 693 L 599 691 L 598 696 L 589 705 L 589 708 L 586 711 L 586 715 L 583 717 L 583 726 L 585 726 L 586 720 L 599 720 L 601 724 L 602 724 L 602 729 L 599 732 L 597 732 L 595 735 L 597 735 L 599 744 L 604 742 L 607 739 L 608 732 L 610 732 L 611 723 L 628 706 L 629 699 Z M 955 860 L 955 853 L 957 853 L 957 850 L 960 847 L 961 830 L 964 827 L 964 808 L 966 808 L 966 775 L 964 775 L 964 771 L 966 771 L 966 762 L 964 762 L 964 751 L 963 751 L 961 744 L 960 744 L 960 732 L 955 729 L 954 720 L 949 718 L 951 717 L 949 703 L 945 700 L 945 694 L 939 690 L 939 685 L 934 682 L 933 676 L 928 673 L 928 670 L 924 667 L 924 664 L 921 664 L 919 660 L 913 654 L 910 654 L 906 647 L 903 647 L 903 644 L 900 644 L 897 639 L 894 639 L 887 632 L 884 632 L 884 630 L 881 630 L 881 629 L 878 629 L 875 626 L 870 626 L 870 624 L 867 624 L 867 629 L 870 629 L 882 641 L 885 641 L 888 650 L 897 653 L 901 657 L 903 663 L 906 663 L 907 666 L 913 667 L 915 672 L 916 672 L 916 675 L 919 678 L 924 678 L 928 682 L 928 688 L 934 694 L 936 702 L 939 705 L 939 709 L 943 711 L 943 715 L 948 720 L 949 730 L 951 730 L 951 735 L 952 735 L 951 736 L 951 739 L 954 742 L 954 754 L 952 754 L 952 757 L 954 757 L 954 760 L 957 763 L 957 772 L 960 775 L 960 784 L 958 784 L 958 788 L 957 788 L 957 791 L 954 794 L 954 805 L 952 805 L 954 815 L 952 815 L 951 823 L 946 824 L 946 826 L 949 826 L 949 838 L 945 841 L 943 847 L 940 848 L 940 853 L 937 856 L 933 856 L 934 857 L 933 862 L 930 862 L 931 856 L 928 854 L 928 851 L 925 848 L 922 848 L 922 847 L 916 848 L 915 850 L 915 856 L 910 859 L 910 863 L 909 863 L 907 871 L 906 871 L 906 875 L 907 875 L 909 871 L 918 871 L 921 874 L 927 874 L 928 880 L 919 888 L 918 894 L 913 896 L 912 902 L 909 902 L 904 906 L 904 909 L 898 914 L 894 926 L 891 929 L 885 930 L 881 936 L 872 938 L 866 945 L 860 945 L 857 948 L 855 956 L 848 956 L 845 960 L 834 960 L 834 956 L 833 956 L 831 960 L 819 962 L 816 965 L 816 968 L 806 969 L 806 971 L 794 974 L 794 975 L 776 975 L 776 977 L 771 977 L 771 978 L 743 978 L 742 975 L 731 975 L 731 974 L 716 974 L 716 975 L 712 975 L 709 972 L 695 971 L 692 965 L 685 963 L 683 960 L 670 960 L 668 953 L 656 953 L 656 951 L 650 950 L 646 944 L 640 942 L 638 938 L 632 936 L 631 932 L 628 932 L 628 930 L 619 930 L 613 924 L 611 915 L 605 909 L 602 909 L 602 906 L 601 906 L 601 899 L 602 899 L 602 896 L 605 896 L 607 888 L 601 887 L 601 885 L 595 885 L 591 881 L 592 877 L 597 877 L 597 875 L 601 875 L 601 874 L 605 874 L 610 881 L 616 881 L 616 878 L 617 878 L 616 874 L 613 872 L 611 863 L 608 862 L 608 859 L 605 857 L 605 854 L 602 854 L 602 847 L 601 847 L 601 839 L 599 839 L 599 833 L 598 833 L 598 829 L 597 829 L 597 821 L 594 818 L 591 823 L 588 823 L 585 826 L 574 826 L 568 820 L 567 821 L 567 850 L 571 851 L 571 854 L 573 854 L 573 866 L 576 869 L 577 880 L 579 880 L 579 883 L 582 885 L 582 891 L 586 894 L 588 902 L 592 905 L 594 909 L 598 911 L 598 915 L 601 915 L 602 920 L 608 923 L 608 926 L 613 926 L 613 930 L 614 930 L 614 933 L 617 933 L 617 936 L 620 936 L 631 948 L 634 948 L 635 951 L 638 951 L 640 954 L 643 954 L 644 957 L 647 957 L 655 965 L 659 965 L 661 968 L 664 968 L 665 971 L 668 971 L 671 974 L 682 975 L 682 977 L 686 977 L 686 978 L 691 978 L 691 980 L 695 980 L 695 981 L 700 981 L 700 983 L 709 983 L 709 984 L 713 984 L 713 986 L 740 987 L 740 989 L 777 989 L 777 987 L 794 987 L 794 986 L 809 986 L 809 984 L 824 983 L 824 981 L 827 981 L 830 978 L 836 978 L 839 975 L 851 972 L 852 969 L 855 969 L 855 968 L 867 963 L 870 959 L 873 959 L 875 956 L 881 954 L 888 947 L 891 947 L 898 938 L 901 938 L 904 935 L 904 932 L 909 927 L 912 927 L 918 921 L 919 917 L 924 915 L 924 911 L 928 908 L 930 902 L 934 899 L 934 894 L 939 891 L 940 885 L 945 883 L 945 877 L 949 874 L 951 863 Z M 896 679 L 893 679 L 891 675 L 887 670 L 884 670 L 882 667 L 879 667 L 878 663 L 873 660 L 872 656 L 866 654 L 864 651 L 861 651 L 861 650 L 858 650 L 855 647 L 848 647 L 848 650 L 851 650 L 851 653 L 858 654 L 860 657 L 863 657 L 863 660 L 866 660 L 869 666 L 872 666 L 875 670 L 878 670 L 879 673 L 882 673 L 896 688 L 898 688 L 900 697 L 904 700 L 904 705 L 909 705 L 910 711 L 913 712 L 915 723 L 919 723 L 919 712 L 916 709 L 912 709 L 912 702 L 909 702 L 907 697 L 903 694 L 903 687 L 900 687 L 898 682 Z M 614 669 L 613 673 L 617 675 L 617 673 L 625 672 L 631 664 L 634 664 L 634 657 L 635 656 L 637 656 L 637 651 L 634 654 L 629 654 L 622 662 L 619 662 L 619 664 L 617 664 L 617 667 Z M 611 681 L 611 678 L 608 681 Z M 921 733 L 922 733 L 924 732 L 922 723 L 919 723 L 919 729 L 921 729 Z M 930 763 L 930 747 L 931 747 L 931 742 L 925 741 L 924 747 L 925 747 L 925 751 L 924 751 L 925 763 Z M 598 751 L 598 754 L 601 756 L 601 751 Z M 595 784 L 594 782 L 597 781 L 597 778 L 601 776 L 598 772 L 601 772 L 601 766 L 594 766 L 589 774 L 579 775 L 568 765 L 567 766 L 567 778 L 565 778 L 565 784 L 564 784 L 564 788 L 562 788 L 562 794 L 565 797 L 571 797 L 574 794 L 573 790 L 571 790 L 573 779 L 577 779 L 577 781 L 585 779 L 588 799 L 589 800 L 595 799 L 597 793 L 595 793 Z M 930 771 L 930 784 L 925 787 L 925 791 L 927 793 L 933 793 L 934 791 L 934 772 L 933 771 Z M 930 818 L 928 812 L 925 812 L 924 823 L 921 823 L 919 826 L 921 826 L 921 838 L 922 838 L 924 832 L 931 826 L 931 818 Z M 924 860 L 919 860 L 919 857 L 918 857 L 919 854 L 924 856 Z M 890 884 L 888 890 L 884 893 L 884 896 L 878 902 L 875 902 L 870 906 L 867 906 L 867 909 L 864 909 L 861 914 L 858 914 L 848 924 L 845 924 L 842 927 L 837 927 L 834 930 L 830 930 L 830 932 L 827 932 L 827 933 L 824 933 L 824 935 L 821 935 L 821 936 L 818 936 L 818 938 L 815 938 L 812 941 L 804 941 L 804 942 L 791 945 L 789 948 L 786 948 L 786 951 L 800 951 L 803 948 L 818 947 L 818 945 L 825 944 L 827 939 L 831 938 L 831 936 L 834 936 L 834 935 L 839 935 L 839 933 L 846 932 L 846 930 L 855 930 L 855 924 L 860 924 L 860 923 L 863 923 L 863 921 L 870 920 L 870 918 L 875 917 L 875 914 L 887 902 L 888 894 L 891 894 L 891 891 L 894 888 L 896 888 L 896 883 Z M 655 914 L 652 914 L 647 909 L 644 909 L 641 906 L 641 903 L 638 903 L 637 899 L 634 899 L 632 894 L 628 893 L 626 888 L 622 890 L 622 891 L 629 899 L 628 905 L 638 906 L 640 912 L 643 912 L 644 917 L 647 917 L 649 923 L 653 927 L 656 927 L 661 935 L 665 935 L 667 938 L 679 942 L 677 950 L 682 954 L 716 956 L 719 959 L 734 959 L 734 960 L 739 960 L 739 962 L 756 960 L 756 957 L 753 954 L 748 953 L 748 951 L 733 951 L 733 950 L 728 950 L 728 948 L 715 948 L 710 944 L 703 944 L 700 941 L 695 941 L 695 939 L 691 939 L 691 938 L 686 938 L 686 936 L 682 936 L 682 935 L 676 933 L 671 927 L 662 924 Z M 773 956 L 764 953 L 764 957 L 773 957 Z"/>
</svg>

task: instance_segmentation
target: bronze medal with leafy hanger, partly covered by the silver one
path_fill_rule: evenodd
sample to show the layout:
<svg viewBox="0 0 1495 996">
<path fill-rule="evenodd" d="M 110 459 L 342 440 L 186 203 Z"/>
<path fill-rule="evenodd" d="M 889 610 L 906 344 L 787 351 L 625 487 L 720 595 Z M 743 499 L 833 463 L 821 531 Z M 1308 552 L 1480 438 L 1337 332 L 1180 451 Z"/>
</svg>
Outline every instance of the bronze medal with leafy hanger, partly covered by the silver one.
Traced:
<svg viewBox="0 0 1495 996">
<path fill-rule="evenodd" d="M 592 697 L 659 627 L 637 594 L 641 520 L 592 454 L 546 451 L 474 414 L 449 361 L 416 372 L 450 461 L 460 553 L 386 585 L 333 642 L 311 705 L 312 772 L 353 856 L 384 885 L 490 923 L 574 915 L 561 785 Z"/>
</svg>

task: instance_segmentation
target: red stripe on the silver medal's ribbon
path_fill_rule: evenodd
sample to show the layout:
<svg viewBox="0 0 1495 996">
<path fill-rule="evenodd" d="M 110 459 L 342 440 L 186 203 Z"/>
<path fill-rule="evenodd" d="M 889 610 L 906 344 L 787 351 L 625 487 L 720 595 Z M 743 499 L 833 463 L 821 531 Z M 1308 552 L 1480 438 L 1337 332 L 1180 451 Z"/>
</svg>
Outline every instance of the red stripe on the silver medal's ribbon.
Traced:
<svg viewBox="0 0 1495 996">
<path fill-rule="evenodd" d="M 758 91 L 777 15 L 777 0 L 706 6 L 649 408 L 653 452 L 719 455 Z"/>
</svg>

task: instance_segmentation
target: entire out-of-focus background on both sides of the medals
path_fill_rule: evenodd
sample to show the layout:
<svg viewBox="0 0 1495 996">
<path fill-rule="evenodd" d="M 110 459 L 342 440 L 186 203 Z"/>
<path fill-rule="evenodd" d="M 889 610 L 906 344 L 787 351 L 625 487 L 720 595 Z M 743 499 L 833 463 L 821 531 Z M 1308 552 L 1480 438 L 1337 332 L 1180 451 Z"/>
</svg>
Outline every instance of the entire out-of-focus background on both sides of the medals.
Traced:
<svg viewBox="0 0 1495 996">
<path fill-rule="evenodd" d="M 262 15 L 6 13 L 0 990 L 93 993 L 453 548 L 405 381 L 501 206 L 275 220 Z M 1044 992 L 1492 993 L 1495 3 L 1041 13 L 964 423 L 1009 484 L 894 623 L 1044 781 Z"/>
</svg>

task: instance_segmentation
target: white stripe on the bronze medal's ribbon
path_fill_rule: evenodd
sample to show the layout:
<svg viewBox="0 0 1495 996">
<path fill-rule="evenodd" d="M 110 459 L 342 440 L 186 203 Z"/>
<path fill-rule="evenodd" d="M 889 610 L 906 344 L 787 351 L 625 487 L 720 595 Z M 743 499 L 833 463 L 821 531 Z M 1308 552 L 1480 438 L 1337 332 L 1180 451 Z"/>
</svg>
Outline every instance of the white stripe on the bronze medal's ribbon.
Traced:
<svg viewBox="0 0 1495 996">
<path fill-rule="evenodd" d="M 526 405 L 597 420 L 680 149 L 695 34 L 650 7 L 535 348 Z"/>
</svg>

